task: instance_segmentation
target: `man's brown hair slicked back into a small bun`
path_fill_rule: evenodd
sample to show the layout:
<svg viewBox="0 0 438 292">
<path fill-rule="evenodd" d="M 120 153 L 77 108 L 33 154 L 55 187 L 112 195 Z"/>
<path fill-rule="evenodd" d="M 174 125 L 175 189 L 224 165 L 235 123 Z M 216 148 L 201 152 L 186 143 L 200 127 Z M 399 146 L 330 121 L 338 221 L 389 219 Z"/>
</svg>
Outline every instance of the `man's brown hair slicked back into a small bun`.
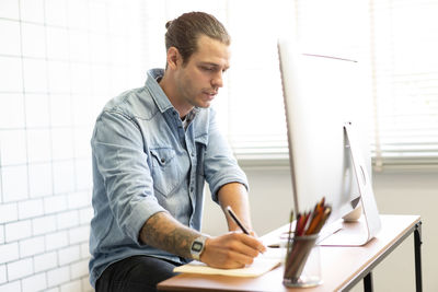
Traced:
<svg viewBox="0 0 438 292">
<path fill-rule="evenodd" d="M 226 27 L 212 15 L 205 12 L 188 12 L 165 24 L 165 50 L 175 47 L 183 57 L 183 65 L 197 50 L 197 40 L 206 35 L 226 45 L 231 38 Z"/>
</svg>

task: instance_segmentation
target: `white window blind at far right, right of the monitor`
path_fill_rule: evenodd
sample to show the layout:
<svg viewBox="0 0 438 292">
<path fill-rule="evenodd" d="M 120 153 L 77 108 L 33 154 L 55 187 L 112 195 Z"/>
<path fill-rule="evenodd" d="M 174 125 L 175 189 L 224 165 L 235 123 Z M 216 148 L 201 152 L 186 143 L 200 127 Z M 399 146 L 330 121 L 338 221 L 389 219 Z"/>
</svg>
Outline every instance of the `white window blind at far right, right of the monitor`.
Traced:
<svg viewBox="0 0 438 292">
<path fill-rule="evenodd" d="M 376 167 L 438 164 L 438 2 L 370 7 Z"/>
</svg>

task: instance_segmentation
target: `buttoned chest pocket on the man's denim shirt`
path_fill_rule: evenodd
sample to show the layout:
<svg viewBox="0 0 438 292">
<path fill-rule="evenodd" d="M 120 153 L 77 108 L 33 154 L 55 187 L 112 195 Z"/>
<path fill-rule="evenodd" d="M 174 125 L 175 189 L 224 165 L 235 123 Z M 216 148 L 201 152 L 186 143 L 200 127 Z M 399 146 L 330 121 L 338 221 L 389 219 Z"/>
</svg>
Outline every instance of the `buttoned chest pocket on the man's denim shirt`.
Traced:
<svg viewBox="0 0 438 292">
<path fill-rule="evenodd" d="M 153 188 L 168 197 L 181 183 L 181 167 L 175 150 L 169 148 L 151 149 Z"/>
</svg>

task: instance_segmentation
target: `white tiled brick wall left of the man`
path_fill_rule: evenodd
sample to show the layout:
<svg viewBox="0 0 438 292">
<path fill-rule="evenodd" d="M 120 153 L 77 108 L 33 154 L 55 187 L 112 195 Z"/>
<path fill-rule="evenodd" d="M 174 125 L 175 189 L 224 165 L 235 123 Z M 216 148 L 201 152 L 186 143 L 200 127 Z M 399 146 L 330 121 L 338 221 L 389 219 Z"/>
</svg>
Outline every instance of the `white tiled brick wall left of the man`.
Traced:
<svg viewBox="0 0 438 292">
<path fill-rule="evenodd" d="M 91 133 L 106 100 L 145 82 L 127 51 L 142 1 L 97 2 L 0 0 L 1 292 L 93 291 Z"/>
</svg>

